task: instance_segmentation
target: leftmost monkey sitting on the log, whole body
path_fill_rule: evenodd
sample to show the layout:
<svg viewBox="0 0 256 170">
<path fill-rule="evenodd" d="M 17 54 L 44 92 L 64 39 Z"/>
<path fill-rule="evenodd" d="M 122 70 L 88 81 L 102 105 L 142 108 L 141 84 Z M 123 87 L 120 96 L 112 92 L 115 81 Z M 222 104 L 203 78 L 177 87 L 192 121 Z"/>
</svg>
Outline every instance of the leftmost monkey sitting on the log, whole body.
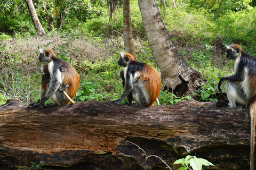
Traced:
<svg viewBox="0 0 256 170">
<path fill-rule="evenodd" d="M 71 98 L 75 97 L 79 85 L 79 76 L 75 69 L 68 62 L 56 57 L 50 49 L 40 50 L 39 61 L 49 64 L 42 67 L 44 74 L 42 75 L 39 104 L 32 103 L 28 108 L 40 106 L 38 109 L 42 109 L 68 104 Z M 52 104 L 44 105 L 49 98 L 52 100 Z"/>
</svg>

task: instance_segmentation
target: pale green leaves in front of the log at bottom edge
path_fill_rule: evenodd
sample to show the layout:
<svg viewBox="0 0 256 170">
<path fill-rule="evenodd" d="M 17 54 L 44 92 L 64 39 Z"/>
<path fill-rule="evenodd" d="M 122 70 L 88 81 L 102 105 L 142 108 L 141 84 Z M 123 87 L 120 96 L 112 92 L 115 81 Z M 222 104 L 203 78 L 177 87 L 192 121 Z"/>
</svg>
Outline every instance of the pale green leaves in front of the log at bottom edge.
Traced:
<svg viewBox="0 0 256 170">
<path fill-rule="evenodd" d="M 201 170 L 204 166 L 214 166 L 208 160 L 203 158 L 197 158 L 195 156 L 186 156 L 186 158 L 178 159 L 173 164 L 181 164 L 182 166 L 178 170 L 191 169 L 193 170 Z"/>
</svg>

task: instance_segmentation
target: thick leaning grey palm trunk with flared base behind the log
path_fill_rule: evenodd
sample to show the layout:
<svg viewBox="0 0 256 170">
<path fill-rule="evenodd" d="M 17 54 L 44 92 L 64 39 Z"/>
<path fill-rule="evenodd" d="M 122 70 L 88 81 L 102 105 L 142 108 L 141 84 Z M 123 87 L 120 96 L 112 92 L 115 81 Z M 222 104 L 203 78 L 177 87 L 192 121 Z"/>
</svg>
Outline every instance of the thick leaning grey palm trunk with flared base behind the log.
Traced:
<svg viewBox="0 0 256 170">
<path fill-rule="evenodd" d="M 139 0 L 139 6 L 148 44 L 161 71 L 164 84 L 162 90 L 167 89 L 178 96 L 195 92 L 205 82 L 200 78 L 201 74 L 198 71 L 189 67 L 174 46 L 164 27 L 156 1 Z"/>
</svg>

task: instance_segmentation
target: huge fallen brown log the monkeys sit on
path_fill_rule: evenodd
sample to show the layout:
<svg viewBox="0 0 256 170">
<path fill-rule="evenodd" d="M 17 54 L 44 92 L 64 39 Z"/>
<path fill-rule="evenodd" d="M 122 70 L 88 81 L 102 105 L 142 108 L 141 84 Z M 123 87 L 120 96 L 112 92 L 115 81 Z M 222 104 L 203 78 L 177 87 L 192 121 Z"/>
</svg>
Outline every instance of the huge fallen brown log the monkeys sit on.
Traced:
<svg viewBox="0 0 256 170">
<path fill-rule="evenodd" d="M 49 169 L 166 169 L 157 158 L 142 164 L 143 152 L 126 141 L 171 166 L 189 154 L 216 166 L 205 169 L 249 169 L 250 115 L 242 107 L 184 100 L 148 108 L 89 101 L 1 109 L 2 169 L 41 160 Z"/>
</svg>

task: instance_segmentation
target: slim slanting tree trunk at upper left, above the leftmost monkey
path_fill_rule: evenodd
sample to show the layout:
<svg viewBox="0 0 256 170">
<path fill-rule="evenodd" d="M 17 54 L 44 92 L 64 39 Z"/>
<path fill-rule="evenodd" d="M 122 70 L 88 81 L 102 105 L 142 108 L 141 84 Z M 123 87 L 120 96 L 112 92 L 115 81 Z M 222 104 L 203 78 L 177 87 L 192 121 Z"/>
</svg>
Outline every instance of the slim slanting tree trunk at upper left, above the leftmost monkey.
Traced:
<svg viewBox="0 0 256 170">
<path fill-rule="evenodd" d="M 45 36 L 45 31 L 44 31 L 44 28 L 42 27 L 38 17 L 37 17 L 37 14 L 36 14 L 36 11 L 35 11 L 35 7 L 34 7 L 34 4 L 32 2 L 32 0 L 27 0 L 27 5 L 28 5 L 28 11 L 29 11 L 29 14 L 31 16 L 31 19 L 32 19 L 32 22 L 34 24 L 34 27 L 37 31 L 37 35 L 38 36 Z"/>
</svg>

